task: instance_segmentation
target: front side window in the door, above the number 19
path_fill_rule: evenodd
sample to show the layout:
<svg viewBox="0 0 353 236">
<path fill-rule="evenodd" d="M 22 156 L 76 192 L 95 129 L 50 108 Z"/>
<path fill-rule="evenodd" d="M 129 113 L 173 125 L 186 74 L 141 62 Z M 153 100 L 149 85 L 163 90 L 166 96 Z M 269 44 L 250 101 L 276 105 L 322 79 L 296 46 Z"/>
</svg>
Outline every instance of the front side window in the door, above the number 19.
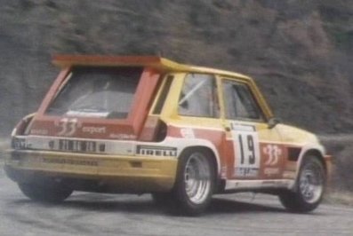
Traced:
<svg viewBox="0 0 353 236">
<path fill-rule="evenodd" d="M 222 89 L 227 119 L 263 119 L 261 110 L 246 84 L 224 80 Z"/>
</svg>

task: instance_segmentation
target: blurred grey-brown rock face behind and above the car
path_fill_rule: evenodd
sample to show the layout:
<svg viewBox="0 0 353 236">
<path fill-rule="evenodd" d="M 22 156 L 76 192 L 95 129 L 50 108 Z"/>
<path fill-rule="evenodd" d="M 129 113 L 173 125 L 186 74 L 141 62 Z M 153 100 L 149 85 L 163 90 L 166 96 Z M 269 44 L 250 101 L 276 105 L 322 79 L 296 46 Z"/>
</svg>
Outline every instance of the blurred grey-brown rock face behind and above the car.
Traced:
<svg viewBox="0 0 353 236">
<path fill-rule="evenodd" d="M 345 0 L 0 0 L 0 132 L 36 110 L 54 53 L 163 55 L 253 76 L 277 116 L 353 131 Z"/>
</svg>

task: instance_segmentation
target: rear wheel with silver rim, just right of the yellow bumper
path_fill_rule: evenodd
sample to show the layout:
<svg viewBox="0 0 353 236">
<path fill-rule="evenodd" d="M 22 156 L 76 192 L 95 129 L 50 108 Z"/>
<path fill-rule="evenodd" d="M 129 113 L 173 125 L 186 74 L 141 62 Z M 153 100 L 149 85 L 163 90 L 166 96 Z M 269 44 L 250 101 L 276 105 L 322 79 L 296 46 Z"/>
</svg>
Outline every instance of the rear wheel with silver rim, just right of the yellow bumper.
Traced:
<svg viewBox="0 0 353 236">
<path fill-rule="evenodd" d="M 169 208 L 177 215 L 200 215 L 210 204 L 214 183 L 211 153 L 202 148 L 187 149 L 181 153 Z"/>
</svg>

